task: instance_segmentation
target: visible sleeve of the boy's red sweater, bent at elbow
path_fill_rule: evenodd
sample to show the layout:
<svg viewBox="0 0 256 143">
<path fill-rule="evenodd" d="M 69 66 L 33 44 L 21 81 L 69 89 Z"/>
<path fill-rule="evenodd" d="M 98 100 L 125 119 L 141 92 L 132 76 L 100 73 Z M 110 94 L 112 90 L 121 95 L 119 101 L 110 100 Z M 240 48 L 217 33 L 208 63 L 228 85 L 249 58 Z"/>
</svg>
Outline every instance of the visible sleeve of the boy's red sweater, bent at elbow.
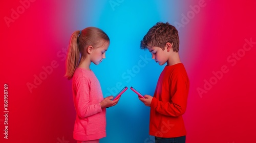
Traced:
<svg viewBox="0 0 256 143">
<path fill-rule="evenodd" d="M 175 86 L 175 92 L 170 101 L 164 103 L 153 98 L 151 108 L 154 108 L 160 114 L 180 116 L 184 114 L 186 110 L 189 82 L 184 76 L 178 74 L 177 77 L 173 79 L 172 84 L 172 86 Z"/>
</svg>

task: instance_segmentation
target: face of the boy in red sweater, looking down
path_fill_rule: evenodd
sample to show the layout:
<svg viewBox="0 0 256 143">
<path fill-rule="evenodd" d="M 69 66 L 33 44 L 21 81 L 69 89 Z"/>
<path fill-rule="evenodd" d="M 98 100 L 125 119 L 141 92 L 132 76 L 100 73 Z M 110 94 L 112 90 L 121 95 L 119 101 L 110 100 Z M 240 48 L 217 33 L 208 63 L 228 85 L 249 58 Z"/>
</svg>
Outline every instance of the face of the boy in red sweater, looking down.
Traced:
<svg viewBox="0 0 256 143">
<path fill-rule="evenodd" d="M 161 47 L 158 46 L 147 47 L 147 49 L 152 54 L 152 59 L 154 59 L 159 65 L 163 65 L 167 62 L 169 58 L 169 53 L 166 46 L 164 47 L 164 50 L 162 50 Z"/>
</svg>

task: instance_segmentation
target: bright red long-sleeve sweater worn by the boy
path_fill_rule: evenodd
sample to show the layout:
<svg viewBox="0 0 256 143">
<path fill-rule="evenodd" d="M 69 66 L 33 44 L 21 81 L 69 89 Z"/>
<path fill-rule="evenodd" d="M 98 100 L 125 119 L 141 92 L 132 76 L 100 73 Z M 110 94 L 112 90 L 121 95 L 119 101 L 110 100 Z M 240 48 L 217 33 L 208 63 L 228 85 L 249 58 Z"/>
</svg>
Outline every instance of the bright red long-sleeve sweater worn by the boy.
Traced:
<svg viewBox="0 0 256 143">
<path fill-rule="evenodd" d="M 182 63 L 165 66 L 157 82 L 150 111 L 150 135 L 186 135 L 182 114 L 187 106 L 189 80 Z"/>
</svg>

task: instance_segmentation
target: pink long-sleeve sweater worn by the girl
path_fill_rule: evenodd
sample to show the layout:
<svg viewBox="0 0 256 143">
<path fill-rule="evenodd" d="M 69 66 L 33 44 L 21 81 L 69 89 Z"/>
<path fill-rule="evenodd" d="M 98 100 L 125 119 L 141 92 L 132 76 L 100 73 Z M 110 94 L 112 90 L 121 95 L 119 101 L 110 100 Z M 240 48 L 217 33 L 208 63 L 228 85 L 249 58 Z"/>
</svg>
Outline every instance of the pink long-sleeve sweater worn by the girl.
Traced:
<svg viewBox="0 0 256 143">
<path fill-rule="evenodd" d="M 86 141 L 106 136 L 106 110 L 99 102 L 103 100 L 101 87 L 92 70 L 76 68 L 72 79 L 76 120 L 73 137 Z"/>
</svg>

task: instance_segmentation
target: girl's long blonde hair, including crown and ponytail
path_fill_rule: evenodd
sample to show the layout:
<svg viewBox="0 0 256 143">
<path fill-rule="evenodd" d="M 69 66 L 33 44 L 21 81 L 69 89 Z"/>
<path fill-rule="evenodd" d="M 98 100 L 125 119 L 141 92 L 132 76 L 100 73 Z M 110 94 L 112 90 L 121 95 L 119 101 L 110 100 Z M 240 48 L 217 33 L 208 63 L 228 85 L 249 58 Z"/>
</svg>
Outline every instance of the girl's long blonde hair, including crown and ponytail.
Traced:
<svg viewBox="0 0 256 143">
<path fill-rule="evenodd" d="M 81 31 L 75 31 L 70 38 L 69 49 L 66 58 L 66 74 L 65 77 L 70 80 L 73 77 L 76 67 L 80 60 L 84 59 L 86 52 L 84 49 L 88 46 L 97 48 L 102 42 L 110 42 L 109 36 L 101 29 L 96 27 L 88 27 Z M 81 57 L 80 57 L 81 55 Z"/>
</svg>

